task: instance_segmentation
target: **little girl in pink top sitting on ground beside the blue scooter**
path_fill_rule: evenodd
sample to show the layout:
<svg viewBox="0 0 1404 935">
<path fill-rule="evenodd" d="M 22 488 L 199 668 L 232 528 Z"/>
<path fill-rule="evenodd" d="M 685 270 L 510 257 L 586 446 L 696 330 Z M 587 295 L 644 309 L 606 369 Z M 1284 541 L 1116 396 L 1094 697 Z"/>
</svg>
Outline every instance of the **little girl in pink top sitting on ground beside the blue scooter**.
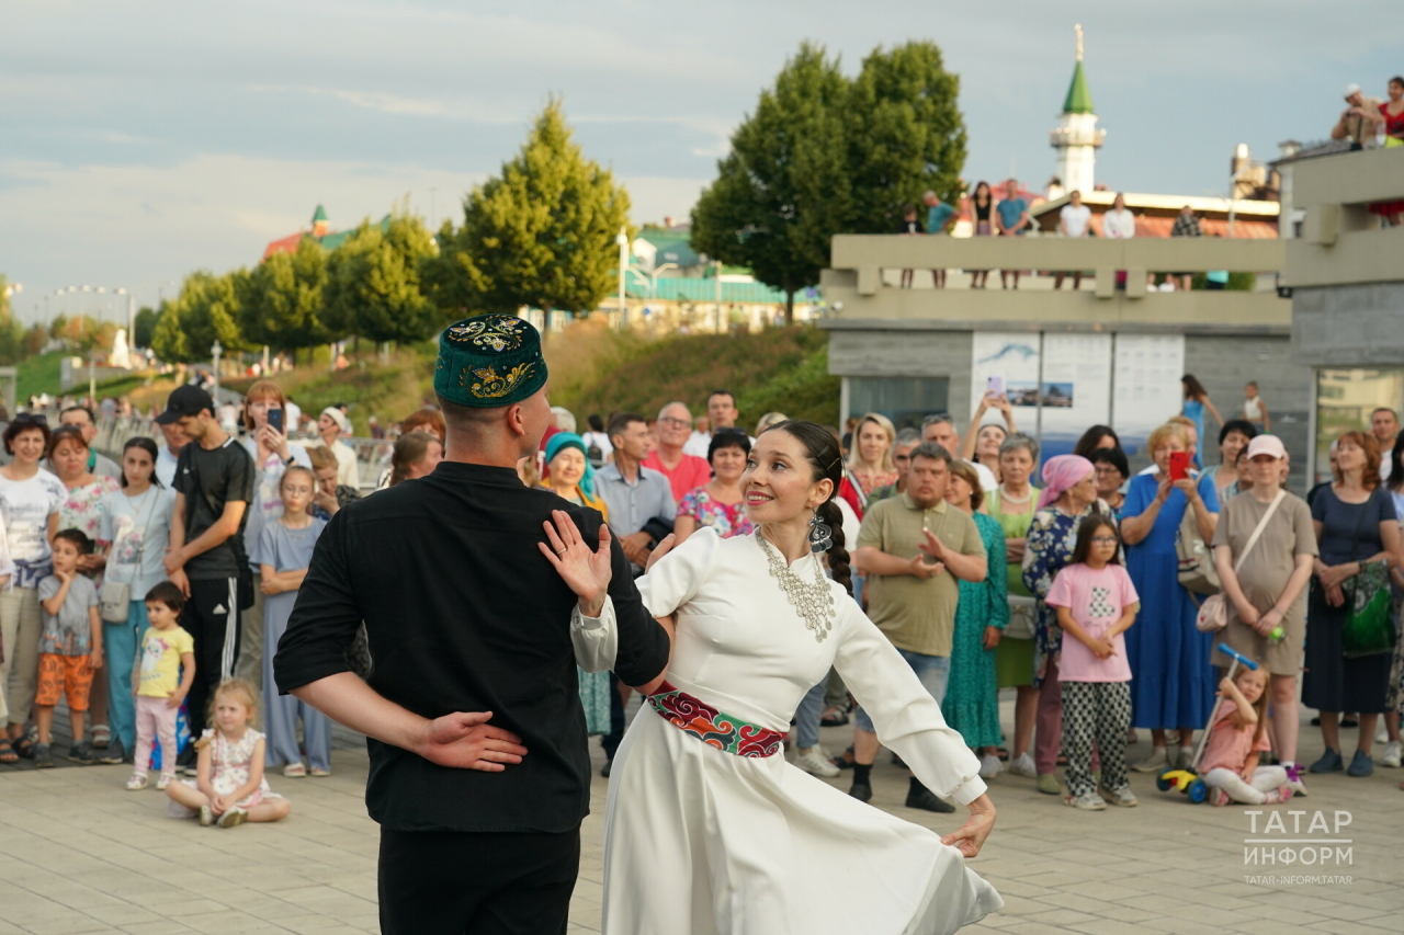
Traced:
<svg viewBox="0 0 1404 935">
<path fill-rule="evenodd" d="M 1258 754 L 1268 743 L 1268 671 L 1244 668 L 1233 681 L 1219 682 L 1221 698 L 1209 727 L 1199 775 L 1216 806 L 1276 804 L 1292 799 L 1287 771 L 1259 767 Z"/>
</svg>

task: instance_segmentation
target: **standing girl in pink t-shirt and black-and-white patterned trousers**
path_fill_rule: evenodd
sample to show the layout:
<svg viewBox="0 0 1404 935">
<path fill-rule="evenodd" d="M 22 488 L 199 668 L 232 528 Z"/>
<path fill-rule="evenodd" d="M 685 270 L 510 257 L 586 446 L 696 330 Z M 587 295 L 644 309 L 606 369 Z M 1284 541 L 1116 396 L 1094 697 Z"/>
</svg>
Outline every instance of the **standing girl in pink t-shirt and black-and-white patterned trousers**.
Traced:
<svg viewBox="0 0 1404 935">
<path fill-rule="evenodd" d="M 1073 563 L 1059 571 L 1047 595 L 1066 633 L 1059 660 L 1068 790 L 1063 802 L 1087 811 L 1101 811 L 1108 800 L 1136 804 L 1126 779 L 1132 670 L 1122 633 L 1136 621 L 1140 597 L 1119 556 L 1116 525 L 1094 512 L 1077 528 Z M 1094 740 L 1102 755 L 1106 799 L 1092 781 Z"/>
</svg>

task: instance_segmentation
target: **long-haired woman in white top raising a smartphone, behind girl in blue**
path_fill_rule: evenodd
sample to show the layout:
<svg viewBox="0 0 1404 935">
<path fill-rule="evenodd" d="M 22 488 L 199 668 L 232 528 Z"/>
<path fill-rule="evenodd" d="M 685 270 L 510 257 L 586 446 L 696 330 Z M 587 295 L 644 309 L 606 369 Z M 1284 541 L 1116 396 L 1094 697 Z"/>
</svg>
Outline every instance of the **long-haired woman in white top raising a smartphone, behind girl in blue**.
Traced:
<svg viewBox="0 0 1404 935">
<path fill-rule="evenodd" d="M 263 687 L 263 577 L 253 560 L 258 536 L 264 526 L 282 517 L 279 486 L 282 475 L 292 465 L 312 469 L 307 449 L 288 441 L 285 431 L 286 400 L 272 380 L 258 380 L 244 394 L 244 448 L 254 459 L 254 501 L 249 504 L 244 522 L 244 559 L 254 576 L 254 604 L 244 611 L 244 633 L 240 639 L 234 675 Z"/>
</svg>

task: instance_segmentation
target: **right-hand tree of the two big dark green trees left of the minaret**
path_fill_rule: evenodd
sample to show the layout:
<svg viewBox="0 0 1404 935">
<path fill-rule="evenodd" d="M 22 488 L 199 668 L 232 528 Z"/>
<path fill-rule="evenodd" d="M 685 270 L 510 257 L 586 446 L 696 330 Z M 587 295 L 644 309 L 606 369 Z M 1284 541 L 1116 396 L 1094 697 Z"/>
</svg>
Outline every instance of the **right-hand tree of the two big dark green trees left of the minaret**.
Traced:
<svg viewBox="0 0 1404 935">
<path fill-rule="evenodd" d="M 903 205 L 934 191 L 960 194 L 966 132 L 956 97 L 960 79 L 945 70 L 934 42 L 875 49 L 854 79 L 848 122 L 851 233 L 887 233 Z M 837 232 L 835 232 L 837 233 Z"/>
</svg>

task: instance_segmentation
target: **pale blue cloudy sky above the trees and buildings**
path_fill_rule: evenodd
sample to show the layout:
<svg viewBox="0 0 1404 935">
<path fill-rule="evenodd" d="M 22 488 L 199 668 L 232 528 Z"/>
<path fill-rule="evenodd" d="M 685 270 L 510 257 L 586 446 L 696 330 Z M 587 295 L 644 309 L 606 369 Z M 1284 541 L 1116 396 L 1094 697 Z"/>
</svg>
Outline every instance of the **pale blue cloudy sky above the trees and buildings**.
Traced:
<svg viewBox="0 0 1404 935">
<path fill-rule="evenodd" d="M 66 285 L 153 303 L 195 268 L 256 263 L 324 204 L 333 226 L 409 198 L 458 212 L 549 94 L 629 187 L 635 222 L 685 218 L 799 42 L 856 70 L 935 41 L 960 74 L 966 178 L 1053 173 L 1073 24 L 1106 146 L 1098 181 L 1210 194 L 1233 146 L 1317 139 L 1341 87 L 1404 72 L 1397 6 L 1278 0 L 703 6 L 375 0 L 6 0 L 0 272 L 24 317 Z M 1372 29 L 1365 24 L 1377 24 Z M 93 306 L 88 306 L 93 310 Z"/>
</svg>

